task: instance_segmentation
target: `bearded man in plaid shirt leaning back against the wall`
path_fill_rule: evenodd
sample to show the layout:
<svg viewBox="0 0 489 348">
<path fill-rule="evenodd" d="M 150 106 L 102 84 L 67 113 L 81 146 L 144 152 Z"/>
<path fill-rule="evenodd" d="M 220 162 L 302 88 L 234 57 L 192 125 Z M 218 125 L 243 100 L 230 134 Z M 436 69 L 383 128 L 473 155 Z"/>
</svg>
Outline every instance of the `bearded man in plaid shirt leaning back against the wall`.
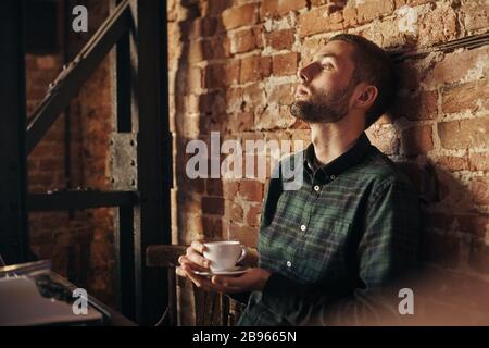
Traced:
<svg viewBox="0 0 489 348">
<path fill-rule="evenodd" d="M 299 75 L 291 113 L 310 124 L 312 144 L 296 163 L 304 174 L 299 190 L 284 190 L 280 175 L 269 182 L 258 252 L 249 257 L 259 266 L 237 277 L 197 276 L 209 266 L 198 241 L 179 259 L 178 274 L 197 286 L 251 293 L 241 325 L 348 323 L 369 313 L 376 290 L 418 258 L 417 195 L 364 134 L 394 95 L 389 58 L 342 34 Z"/>
</svg>

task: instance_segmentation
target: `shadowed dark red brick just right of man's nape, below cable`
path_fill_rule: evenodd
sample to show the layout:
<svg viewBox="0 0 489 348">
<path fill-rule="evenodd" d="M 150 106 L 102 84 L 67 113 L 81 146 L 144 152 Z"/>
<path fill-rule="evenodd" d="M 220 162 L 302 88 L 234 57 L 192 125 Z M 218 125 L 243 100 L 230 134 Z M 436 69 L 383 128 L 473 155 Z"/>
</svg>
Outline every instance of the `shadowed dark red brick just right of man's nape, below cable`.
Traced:
<svg viewBox="0 0 489 348">
<path fill-rule="evenodd" d="M 437 115 L 437 99 L 436 90 L 398 97 L 392 108 L 392 116 L 411 121 L 432 120 Z"/>
</svg>

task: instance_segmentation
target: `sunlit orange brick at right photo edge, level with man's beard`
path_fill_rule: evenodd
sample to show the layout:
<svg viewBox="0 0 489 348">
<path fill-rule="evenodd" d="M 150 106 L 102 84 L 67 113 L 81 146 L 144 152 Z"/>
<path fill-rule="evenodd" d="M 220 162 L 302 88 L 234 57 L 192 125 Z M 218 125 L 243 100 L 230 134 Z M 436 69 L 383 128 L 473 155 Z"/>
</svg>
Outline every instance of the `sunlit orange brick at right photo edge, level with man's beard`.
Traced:
<svg viewBox="0 0 489 348">
<path fill-rule="evenodd" d="M 447 87 L 441 95 L 441 110 L 446 113 L 489 108 L 489 79 L 469 82 L 459 86 Z"/>
</svg>

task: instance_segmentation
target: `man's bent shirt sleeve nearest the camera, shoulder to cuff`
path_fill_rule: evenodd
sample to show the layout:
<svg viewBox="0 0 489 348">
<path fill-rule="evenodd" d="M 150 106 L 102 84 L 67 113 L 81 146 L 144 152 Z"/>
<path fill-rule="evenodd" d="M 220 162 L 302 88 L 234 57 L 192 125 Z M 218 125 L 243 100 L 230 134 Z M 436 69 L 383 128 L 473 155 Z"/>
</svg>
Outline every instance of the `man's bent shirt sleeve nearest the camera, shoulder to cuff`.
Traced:
<svg viewBox="0 0 489 348">
<path fill-rule="evenodd" d="M 274 273 L 262 293 L 266 307 L 292 325 L 372 323 L 373 318 L 397 316 L 399 288 L 393 284 L 418 263 L 419 200 L 402 181 L 387 182 L 376 192 L 358 244 L 361 286 L 340 296 L 334 284 L 304 286 Z"/>
</svg>

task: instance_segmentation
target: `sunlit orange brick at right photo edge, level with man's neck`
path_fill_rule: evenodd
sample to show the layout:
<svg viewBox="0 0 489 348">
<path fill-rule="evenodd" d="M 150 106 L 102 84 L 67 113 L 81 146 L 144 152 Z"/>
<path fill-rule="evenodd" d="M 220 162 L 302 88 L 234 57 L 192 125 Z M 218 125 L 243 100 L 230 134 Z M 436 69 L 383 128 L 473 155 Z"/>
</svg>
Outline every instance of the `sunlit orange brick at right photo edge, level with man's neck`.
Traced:
<svg viewBox="0 0 489 348">
<path fill-rule="evenodd" d="M 488 129 L 488 117 L 441 122 L 438 124 L 438 136 L 441 146 L 446 149 L 487 147 L 489 145 Z"/>
</svg>

